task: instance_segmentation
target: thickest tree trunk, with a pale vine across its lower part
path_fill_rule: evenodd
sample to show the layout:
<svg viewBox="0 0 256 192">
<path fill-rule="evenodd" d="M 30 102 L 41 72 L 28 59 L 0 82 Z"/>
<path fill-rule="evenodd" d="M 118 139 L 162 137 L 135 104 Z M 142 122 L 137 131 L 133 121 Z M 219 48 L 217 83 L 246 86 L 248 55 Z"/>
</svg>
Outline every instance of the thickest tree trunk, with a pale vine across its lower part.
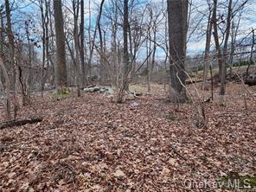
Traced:
<svg viewBox="0 0 256 192">
<path fill-rule="evenodd" d="M 186 37 L 188 29 L 187 0 L 168 0 L 170 43 L 170 99 L 182 103 L 187 99 L 185 80 Z"/>
</svg>

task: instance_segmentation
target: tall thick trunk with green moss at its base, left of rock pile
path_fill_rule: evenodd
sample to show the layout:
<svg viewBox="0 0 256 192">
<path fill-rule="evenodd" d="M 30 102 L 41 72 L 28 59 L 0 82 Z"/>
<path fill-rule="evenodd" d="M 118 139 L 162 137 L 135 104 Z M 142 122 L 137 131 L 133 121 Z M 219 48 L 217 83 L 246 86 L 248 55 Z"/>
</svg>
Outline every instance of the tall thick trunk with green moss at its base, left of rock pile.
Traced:
<svg viewBox="0 0 256 192">
<path fill-rule="evenodd" d="M 67 68 L 61 0 L 54 1 L 54 22 L 57 48 L 56 85 L 58 93 L 63 93 L 67 90 Z"/>
</svg>

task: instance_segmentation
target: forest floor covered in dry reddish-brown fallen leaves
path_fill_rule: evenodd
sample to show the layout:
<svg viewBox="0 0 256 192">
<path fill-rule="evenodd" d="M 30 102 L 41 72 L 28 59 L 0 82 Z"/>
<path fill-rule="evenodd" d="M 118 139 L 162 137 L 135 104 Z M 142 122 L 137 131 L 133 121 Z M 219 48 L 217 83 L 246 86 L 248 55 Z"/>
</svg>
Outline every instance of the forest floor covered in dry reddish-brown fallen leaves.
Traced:
<svg viewBox="0 0 256 192">
<path fill-rule="evenodd" d="M 195 126 L 191 103 L 176 110 L 166 102 L 163 86 L 124 104 L 99 93 L 35 97 L 19 118 L 40 116 L 41 123 L 0 130 L 0 191 L 255 188 L 256 86 L 248 88 L 254 99 L 241 84 L 229 83 L 223 98 L 216 88 L 214 101 L 204 104 L 204 128 Z M 228 188 L 234 178 L 250 179 Z"/>
</svg>

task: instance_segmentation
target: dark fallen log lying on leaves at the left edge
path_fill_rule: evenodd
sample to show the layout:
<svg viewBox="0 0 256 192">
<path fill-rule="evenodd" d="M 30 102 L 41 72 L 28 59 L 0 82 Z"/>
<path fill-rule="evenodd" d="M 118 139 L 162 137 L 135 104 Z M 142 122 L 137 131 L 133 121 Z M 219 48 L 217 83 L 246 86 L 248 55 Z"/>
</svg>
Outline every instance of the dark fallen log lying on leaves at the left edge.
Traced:
<svg viewBox="0 0 256 192">
<path fill-rule="evenodd" d="M 38 122 L 42 122 L 42 118 L 27 118 L 27 119 L 21 119 L 21 120 L 12 120 L 8 122 L 4 122 L 0 124 L 0 130 L 5 128 L 10 128 L 13 126 L 21 126 L 21 125 L 27 125 L 27 124 L 35 124 Z"/>
</svg>

